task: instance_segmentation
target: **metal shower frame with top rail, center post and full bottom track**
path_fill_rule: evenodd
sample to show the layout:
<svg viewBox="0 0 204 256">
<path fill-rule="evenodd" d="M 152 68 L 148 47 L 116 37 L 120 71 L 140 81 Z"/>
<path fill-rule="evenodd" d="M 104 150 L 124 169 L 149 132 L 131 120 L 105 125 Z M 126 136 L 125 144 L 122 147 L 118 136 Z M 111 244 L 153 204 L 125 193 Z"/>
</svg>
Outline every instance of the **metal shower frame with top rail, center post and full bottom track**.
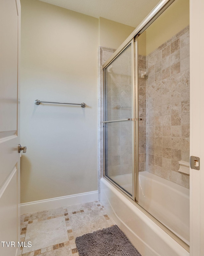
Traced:
<svg viewBox="0 0 204 256">
<path fill-rule="evenodd" d="M 149 212 L 147 212 L 144 208 L 142 208 L 138 204 L 138 190 L 139 190 L 139 163 L 138 163 L 138 147 L 139 147 L 139 137 L 138 137 L 138 131 L 139 131 L 139 125 L 138 125 L 138 42 L 137 42 L 137 37 L 142 34 L 143 31 L 146 30 L 146 28 L 151 25 L 154 20 L 157 19 L 175 0 L 161 0 L 157 6 L 152 10 L 152 12 L 149 13 L 149 15 L 141 22 L 141 24 L 128 36 L 128 38 L 120 45 L 120 47 L 113 53 L 113 55 L 103 64 L 102 68 L 103 70 L 109 66 L 109 64 L 115 60 L 118 55 L 131 43 L 133 42 L 132 45 L 134 45 L 134 49 L 132 51 L 134 58 L 132 59 L 132 74 L 133 77 L 133 95 L 134 95 L 134 100 L 132 101 L 132 108 L 134 109 L 134 118 L 131 120 L 134 121 L 134 157 L 133 157 L 133 162 L 134 162 L 134 172 L 133 172 L 133 196 L 129 198 L 132 198 L 133 204 L 138 207 L 144 214 L 146 214 L 153 222 L 155 222 L 160 228 L 162 228 L 169 236 L 171 236 L 175 241 L 178 242 L 182 247 L 186 249 L 186 251 L 189 252 L 189 246 L 182 241 L 176 234 L 174 234 L 170 229 L 168 229 L 164 224 L 162 224 L 159 220 L 157 220 L 153 215 L 151 215 Z M 105 78 L 105 76 L 104 76 Z M 104 80 L 105 81 L 105 80 Z M 105 94 L 104 94 L 105 95 Z M 104 105 L 105 106 L 105 105 Z M 104 116 L 105 117 L 105 116 Z M 135 122 L 137 120 L 137 122 Z M 105 134 L 104 134 L 105 135 Z M 105 144 L 104 144 L 104 156 L 105 156 Z M 104 158 L 105 160 L 105 158 Z M 105 166 L 105 165 L 104 165 Z M 105 175 L 104 175 L 105 176 Z M 105 177 L 108 179 L 107 177 Z M 109 179 L 108 179 L 109 180 Z M 110 180 L 111 181 L 111 180 Z M 111 181 L 113 183 L 113 181 Z M 116 187 L 118 187 L 115 183 L 113 183 Z M 120 188 L 120 187 L 119 187 Z M 123 193 L 125 193 L 124 190 L 120 188 Z M 127 194 L 127 193 L 125 193 Z M 131 200 L 131 199 L 130 199 Z"/>
</svg>

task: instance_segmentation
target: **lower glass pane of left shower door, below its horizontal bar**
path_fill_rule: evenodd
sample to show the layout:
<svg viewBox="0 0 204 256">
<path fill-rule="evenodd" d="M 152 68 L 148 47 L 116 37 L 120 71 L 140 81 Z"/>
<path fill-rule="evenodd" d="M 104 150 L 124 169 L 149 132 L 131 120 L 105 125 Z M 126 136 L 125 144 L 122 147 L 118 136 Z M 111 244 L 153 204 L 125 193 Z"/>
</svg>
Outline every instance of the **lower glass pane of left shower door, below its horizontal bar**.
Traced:
<svg viewBox="0 0 204 256">
<path fill-rule="evenodd" d="M 132 195 L 132 122 L 105 124 L 106 176 Z"/>
</svg>

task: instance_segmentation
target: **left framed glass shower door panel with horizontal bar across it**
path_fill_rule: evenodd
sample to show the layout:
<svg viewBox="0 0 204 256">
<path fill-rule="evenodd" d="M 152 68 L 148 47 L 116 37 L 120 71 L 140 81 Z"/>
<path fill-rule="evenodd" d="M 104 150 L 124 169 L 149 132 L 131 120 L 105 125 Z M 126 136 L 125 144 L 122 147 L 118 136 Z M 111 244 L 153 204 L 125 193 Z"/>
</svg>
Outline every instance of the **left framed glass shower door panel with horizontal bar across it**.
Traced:
<svg viewBox="0 0 204 256">
<path fill-rule="evenodd" d="M 105 176 L 134 197 L 134 40 L 105 68 Z"/>
</svg>

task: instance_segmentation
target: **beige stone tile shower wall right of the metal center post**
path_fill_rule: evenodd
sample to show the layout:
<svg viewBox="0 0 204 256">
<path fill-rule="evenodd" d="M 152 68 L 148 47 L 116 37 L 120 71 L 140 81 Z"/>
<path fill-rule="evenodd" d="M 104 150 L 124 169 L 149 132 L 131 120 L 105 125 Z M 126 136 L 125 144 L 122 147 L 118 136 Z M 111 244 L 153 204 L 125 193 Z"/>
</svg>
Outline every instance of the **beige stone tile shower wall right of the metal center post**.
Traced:
<svg viewBox="0 0 204 256">
<path fill-rule="evenodd" d="M 139 112 L 144 116 L 144 108 L 146 115 L 146 129 L 140 131 L 141 137 L 146 132 L 146 166 L 140 167 L 140 171 L 146 170 L 187 188 L 189 175 L 178 170 L 179 160 L 189 162 L 189 63 L 188 26 L 146 56 L 146 60 L 139 56 L 139 74 L 144 70 L 147 76 L 145 79 L 140 76 L 138 81 Z M 140 165 L 145 159 L 141 140 Z"/>
</svg>

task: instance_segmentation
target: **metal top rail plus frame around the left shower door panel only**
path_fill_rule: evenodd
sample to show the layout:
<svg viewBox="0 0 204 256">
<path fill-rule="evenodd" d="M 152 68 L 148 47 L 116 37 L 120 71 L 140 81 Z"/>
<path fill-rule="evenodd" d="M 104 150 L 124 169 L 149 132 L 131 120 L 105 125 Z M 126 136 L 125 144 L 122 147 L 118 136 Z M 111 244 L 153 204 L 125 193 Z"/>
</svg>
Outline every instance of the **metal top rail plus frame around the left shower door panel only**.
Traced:
<svg viewBox="0 0 204 256">
<path fill-rule="evenodd" d="M 138 44 L 137 44 L 137 37 L 146 29 L 149 27 L 149 25 L 154 22 L 154 20 L 157 19 L 160 14 L 162 14 L 168 6 L 170 6 L 175 0 L 162 0 L 160 1 L 157 6 L 152 10 L 152 12 L 149 13 L 149 15 L 139 24 L 137 28 L 128 36 L 128 38 L 120 45 L 120 47 L 113 53 L 113 55 L 103 64 L 103 80 L 104 80 L 104 95 L 105 95 L 105 69 L 113 62 L 121 52 L 123 52 L 129 44 L 132 44 L 131 52 L 132 52 L 132 84 L 133 84 L 133 102 L 132 102 L 132 108 L 134 109 L 131 120 L 134 122 L 133 125 L 133 133 L 134 133 L 134 143 L 133 143 L 133 150 L 134 150 L 134 157 L 132 159 L 133 161 L 133 178 L 132 178 L 132 185 L 133 185 L 133 195 L 130 196 L 128 193 L 126 193 L 125 190 L 121 189 L 120 186 L 117 186 L 117 184 L 114 183 L 118 188 L 120 188 L 125 194 L 127 194 L 130 198 L 132 198 L 135 202 L 138 203 L 138 191 L 139 191 L 139 163 L 138 163 Z M 104 97 L 104 119 L 105 119 L 105 106 L 106 101 Z M 106 126 L 106 124 L 104 124 Z M 105 175 L 105 127 L 104 127 L 104 177 L 106 177 L 108 180 L 110 180 Z M 112 183 L 113 181 L 110 180 Z"/>
</svg>

